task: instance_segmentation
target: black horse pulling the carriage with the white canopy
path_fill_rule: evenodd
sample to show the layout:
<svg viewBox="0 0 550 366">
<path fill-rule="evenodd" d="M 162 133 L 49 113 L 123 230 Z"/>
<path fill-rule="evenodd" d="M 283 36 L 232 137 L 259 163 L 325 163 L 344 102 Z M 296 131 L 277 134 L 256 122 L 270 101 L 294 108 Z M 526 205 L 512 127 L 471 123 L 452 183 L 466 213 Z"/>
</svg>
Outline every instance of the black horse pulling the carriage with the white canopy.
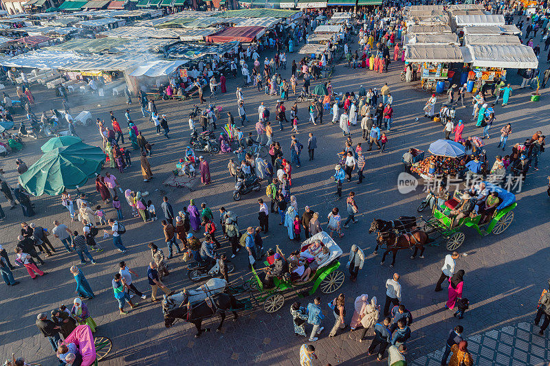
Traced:
<svg viewBox="0 0 550 366">
<path fill-rule="evenodd" d="M 195 324 L 195 328 L 197 328 L 195 338 L 199 338 L 202 332 L 210 332 L 210 328 L 206 328 L 205 330 L 201 328 L 203 319 L 208 319 L 219 314 L 221 321 L 216 329 L 216 331 L 219 332 L 225 320 L 226 311 L 233 312 L 234 320 L 236 320 L 239 315 L 236 313 L 235 309 L 244 308 L 244 305 L 237 301 L 233 295 L 225 293 L 217 293 L 216 295 L 208 297 L 206 300 L 193 304 L 190 306 L 190 310 L 188 309 L 187 301 L 184 301 L 184 304 L 185 305 L 179 308 L 168 311 L 164 315 L 164 326 L 170 328 L 177 318 L 184 319 L 189 323 Z"/>
</svg>

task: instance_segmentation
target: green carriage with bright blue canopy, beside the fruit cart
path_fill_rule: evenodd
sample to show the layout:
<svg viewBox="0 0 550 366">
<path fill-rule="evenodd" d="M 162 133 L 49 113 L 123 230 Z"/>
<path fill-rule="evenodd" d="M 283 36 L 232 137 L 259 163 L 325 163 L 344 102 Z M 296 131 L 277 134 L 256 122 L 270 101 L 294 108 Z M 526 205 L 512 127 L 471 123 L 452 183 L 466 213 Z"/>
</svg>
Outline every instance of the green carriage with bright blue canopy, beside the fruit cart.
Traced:
<svg viewBox="0 0 550 366">
<path fill-rule="evenodd" d="M 455 192 L 454 197 L 445 201 L 443 205 L 434 205 L 432 216 L 428 220 L 425 220 L 422 216 L 420 217 L 424 222 L 423 231 L 426 231 L 426 233 L 436 240 L 446 240 L 446 247 L 450 251 L 456 250 L 464 242 L 465 235 L 461 231 L 461 227 L 463 226 L 474 227 L 482 236 L 489 233 L 494 233 L 495 235 L 503 233 L 514 220 L 513 209 L 517 205 L 516 196 L 492 183 L 483 183 L 485 183 L 485 188 L 489 192 L 498 193 L 500 201 L 489 221 L 480 223 L 481 215 L 465 216 L 456 220 L 451 211 L 461 205 L 461 198 Z M 483 227 L 484 225 L 485 227 Z"/>
</svg>

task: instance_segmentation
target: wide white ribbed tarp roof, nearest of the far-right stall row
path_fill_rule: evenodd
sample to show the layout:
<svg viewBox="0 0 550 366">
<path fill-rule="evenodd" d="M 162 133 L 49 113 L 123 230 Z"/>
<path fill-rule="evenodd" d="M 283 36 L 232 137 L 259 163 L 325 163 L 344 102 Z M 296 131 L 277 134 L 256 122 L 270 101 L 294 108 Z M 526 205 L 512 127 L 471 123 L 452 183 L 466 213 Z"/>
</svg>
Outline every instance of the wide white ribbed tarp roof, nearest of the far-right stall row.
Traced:
<svg viewBox="0 0 550 366">
<path fill-rule="evenodd" d="M 538 60 L 533 49 L 526 45 L 467 45 L 464 62 L 478 67 L 505 69 L 536 69 Z"/>
</svg>

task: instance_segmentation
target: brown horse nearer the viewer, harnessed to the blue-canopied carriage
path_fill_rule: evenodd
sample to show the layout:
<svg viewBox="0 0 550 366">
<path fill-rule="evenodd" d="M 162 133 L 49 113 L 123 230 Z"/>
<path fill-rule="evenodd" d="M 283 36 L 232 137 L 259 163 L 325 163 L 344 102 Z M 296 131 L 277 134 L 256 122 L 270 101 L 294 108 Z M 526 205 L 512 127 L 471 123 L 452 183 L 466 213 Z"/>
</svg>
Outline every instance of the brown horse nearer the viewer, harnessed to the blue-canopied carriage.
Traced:
<svg viewBox="0 0 550 366">
<path fill-rule="evenodd" d="M 380 264 L 384 264 L 386 255 L 388 255 L 390 251 L 393 251 L 393 261 L 390 264 L 390 267 L 393 267 L 395 264 L 395 255 L 397 255 L 397 251 L 399 249 L 412 250 L 412 247 L 415 248 L 415 253 L 410 256 L 410 259 L 415 259 L 418 249 L 420 249 L 420 258 L 424 258 L 424 244 L 429 241 L 430 238 L 428 237 L 428 234 L 421 230 L 412 230 L 406 233 L 399 233 L 397 230 L 386 231 L 384 233 L 379 232 L 376 238 L 376 248 L 378 249 L 379 245 L 382 247 L 383 244 L 386 244 L 386 251 L 382 256 L 382 262 L 380 262 Z"/>
</svg>

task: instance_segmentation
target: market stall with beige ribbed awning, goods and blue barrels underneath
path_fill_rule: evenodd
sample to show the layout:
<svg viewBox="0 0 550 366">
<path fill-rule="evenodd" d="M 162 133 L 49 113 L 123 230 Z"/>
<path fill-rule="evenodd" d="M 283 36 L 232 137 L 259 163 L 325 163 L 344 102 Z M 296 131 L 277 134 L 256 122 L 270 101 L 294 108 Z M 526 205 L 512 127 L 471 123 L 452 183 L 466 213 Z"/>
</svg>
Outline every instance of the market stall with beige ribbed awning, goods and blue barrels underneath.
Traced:
<svg viewBox="0 0 550 366">
<path fill-rule="evenodd" d="M 457 45 L 407 45 L 405 61 L 421 63 L 421 84 L 424 90 L 445 90 L 445 80 L 452 78 L 453 63 L 464 62 L 463 51 Z"/>
</svg>

